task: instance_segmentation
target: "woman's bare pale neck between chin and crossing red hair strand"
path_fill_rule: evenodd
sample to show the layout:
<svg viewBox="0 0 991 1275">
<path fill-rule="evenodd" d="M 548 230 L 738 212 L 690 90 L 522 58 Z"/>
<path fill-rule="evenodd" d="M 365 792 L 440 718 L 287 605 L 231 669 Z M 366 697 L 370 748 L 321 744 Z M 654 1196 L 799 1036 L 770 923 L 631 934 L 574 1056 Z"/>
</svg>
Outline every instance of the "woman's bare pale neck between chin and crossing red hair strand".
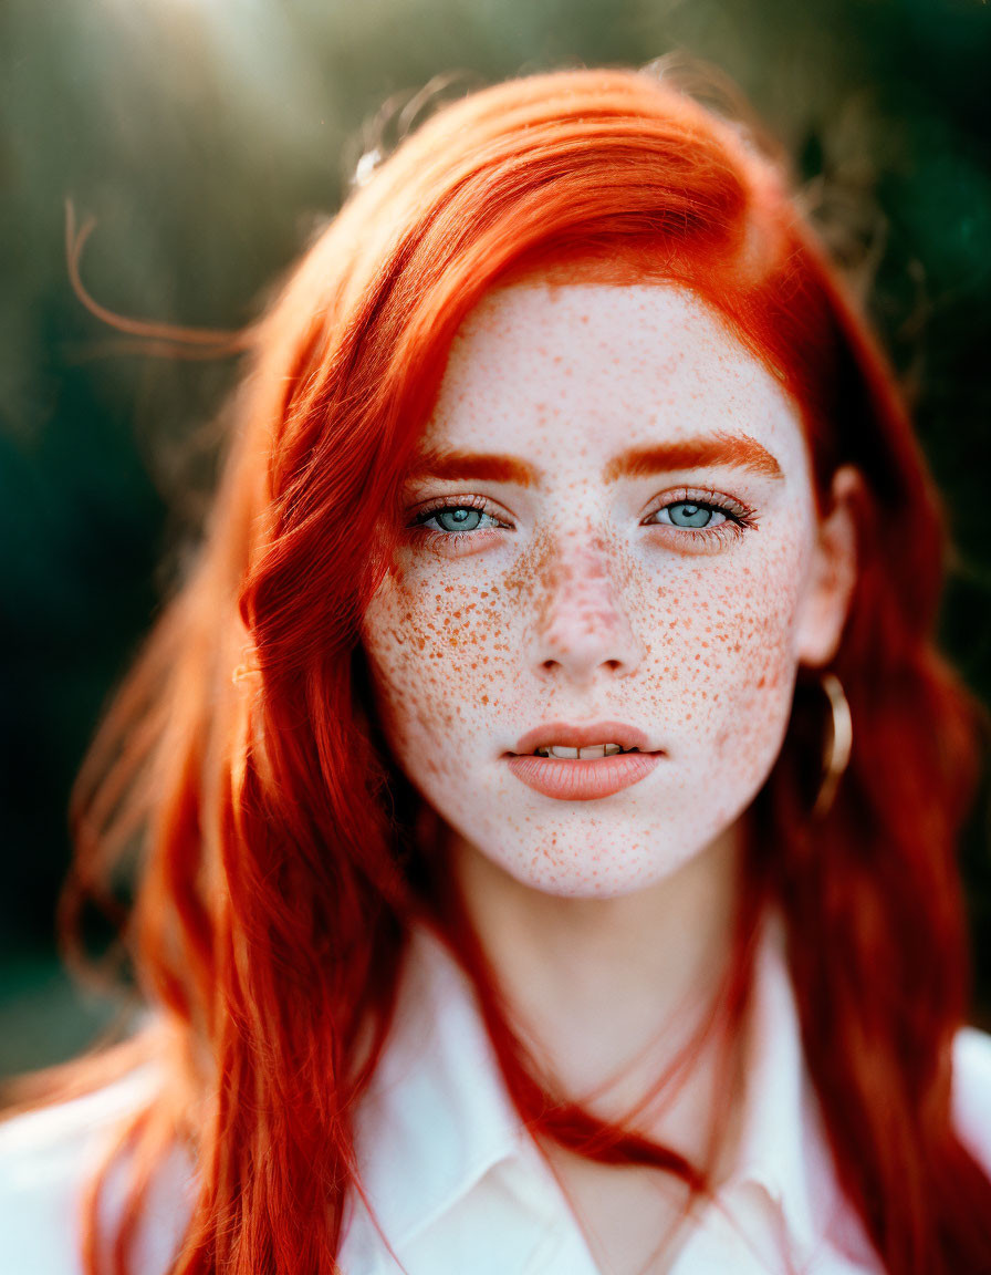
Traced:
<svg viewBox="0 0 991 1275">
<path fill-rule="evenodd" d="M 564 1095 L 622 1118 L 707 1019 L 730 956 L 740 843 L 730 829 L 656 885 L 588 899 L 524 885 L 452 838 L 452 870 L 516 1029 Z M 703 1071 L 693 1065 L 697 1086 Z"/>
</svg>

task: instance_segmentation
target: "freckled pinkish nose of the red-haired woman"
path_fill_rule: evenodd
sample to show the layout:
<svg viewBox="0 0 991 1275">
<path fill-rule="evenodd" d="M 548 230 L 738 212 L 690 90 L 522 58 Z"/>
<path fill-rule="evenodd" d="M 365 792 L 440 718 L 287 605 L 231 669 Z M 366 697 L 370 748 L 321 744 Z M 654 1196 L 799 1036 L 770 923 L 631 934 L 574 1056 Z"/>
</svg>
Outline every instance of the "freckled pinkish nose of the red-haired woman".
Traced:
<svg viewBox="0 0 991 1275">
<path fill-rule="evenodd" d="M 538 672 L 586 685 L 600 669 L 628 676 L 645 653 L 605 544 L 592 538 L 557 550 L 540 570 L 534 635 Z"/>
</svg>

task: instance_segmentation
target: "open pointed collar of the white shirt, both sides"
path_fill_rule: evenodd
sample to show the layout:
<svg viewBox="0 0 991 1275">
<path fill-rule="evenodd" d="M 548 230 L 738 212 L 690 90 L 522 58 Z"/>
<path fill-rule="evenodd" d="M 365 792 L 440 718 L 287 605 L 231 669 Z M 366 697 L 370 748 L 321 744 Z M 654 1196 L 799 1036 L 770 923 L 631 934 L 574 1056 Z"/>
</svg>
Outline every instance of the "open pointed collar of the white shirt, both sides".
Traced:
<svg viewBox="0 0 991 1275">
<path fill-rule="evenodd" d="M 810 1248 L 818 1234 L 810 1170 L 822 1188 L 828 1162 L 777 914 L 766 918 L 754 974 L 743 1132 L 721 1192 L 758 1183 L 780 1205 L 791 1239 Z M 411 938 L 355 1137 L 367 1202 L 396 1248 L 522 1151 L 526 1133 L 471 984 L 427 931 Z"/>
</svg>

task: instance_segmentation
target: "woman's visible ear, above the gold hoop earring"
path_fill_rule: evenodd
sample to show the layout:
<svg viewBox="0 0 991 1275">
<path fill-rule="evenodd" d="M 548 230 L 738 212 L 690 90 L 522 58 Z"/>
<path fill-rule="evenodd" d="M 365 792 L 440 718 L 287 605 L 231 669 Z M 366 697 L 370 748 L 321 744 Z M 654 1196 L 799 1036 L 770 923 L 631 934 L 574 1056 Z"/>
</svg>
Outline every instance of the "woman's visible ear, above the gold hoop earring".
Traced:
<svg viewBox="0 0 991 1275">
<path fill-rule="evenodd" d="M 864 478 L 853 465 L 833 476 L 831 506 L 819 523 L 795 635 L 799 662 L 822 668 L 836 655 L 857 580 L 856 504 Z"/>
</svg>

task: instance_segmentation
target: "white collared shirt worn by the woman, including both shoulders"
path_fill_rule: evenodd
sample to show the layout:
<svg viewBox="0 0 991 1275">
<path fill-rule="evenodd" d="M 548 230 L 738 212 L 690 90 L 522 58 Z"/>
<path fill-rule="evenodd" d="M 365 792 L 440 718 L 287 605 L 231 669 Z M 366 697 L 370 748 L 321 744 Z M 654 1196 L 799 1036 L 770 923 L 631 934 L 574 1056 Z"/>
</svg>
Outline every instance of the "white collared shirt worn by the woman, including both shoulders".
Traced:
<svg viewBox="0 0 991 1275">
<path fill-rule="evenodd" d="M 881 1266 L 834 1179 L 773 926 L 754 1015 L 735 1169 L 670 1275 L 783 1275 L 788 1258 L 801 1275 L 874 1275 Z M 150 1082 L 136 1075 L 0 1126 L 0 1275 L 79 1275 L 80 1187 L 103 1136 Z M 962 1139 L 991 1172 L 991 1035 L 972 1028 L 954 1043 L 953 1104 Z M 357 1137 L 367 1206 L 352 1196 L 343 1275 L 597 1275 L 508 1098 L 466 977 L 427 935 L 413 941 Z M 167 1270 L 190 1198 L 189 1173 L 173 1162 L 140 1232 L 140 1275 Z"/>
</svg>

